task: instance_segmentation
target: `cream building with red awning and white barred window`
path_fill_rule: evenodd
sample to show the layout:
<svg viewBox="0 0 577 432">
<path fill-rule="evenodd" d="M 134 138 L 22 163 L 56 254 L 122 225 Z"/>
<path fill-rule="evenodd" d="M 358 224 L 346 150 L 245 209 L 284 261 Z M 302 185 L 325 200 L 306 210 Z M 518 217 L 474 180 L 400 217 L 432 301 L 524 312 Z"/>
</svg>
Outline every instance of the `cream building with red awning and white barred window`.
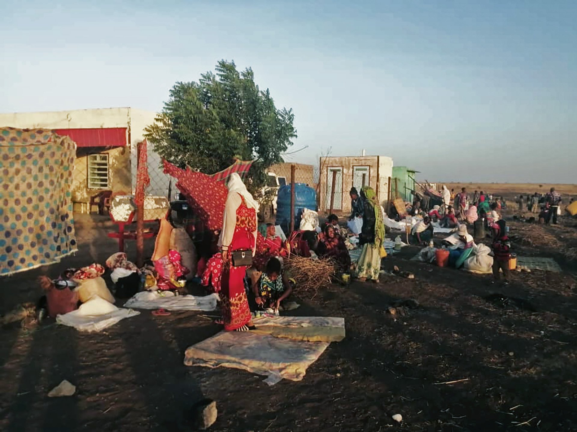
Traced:
<svg viewBox="0 0 577 432">
<path fill-rule="evenodd" d="M 90 197 L 103 190 L 133 193 L 136 187 L 137 144 L 155 112 L 135 108 L 13 112 L 0 114 L 0 126 L 54 129 L 76 142 L 72 199 L 74 210 L 87 207 Z M 148 144 L 147 194 L 167 196 L 170 176 L 162 172 L 161 158 Z"/>
</svg>

